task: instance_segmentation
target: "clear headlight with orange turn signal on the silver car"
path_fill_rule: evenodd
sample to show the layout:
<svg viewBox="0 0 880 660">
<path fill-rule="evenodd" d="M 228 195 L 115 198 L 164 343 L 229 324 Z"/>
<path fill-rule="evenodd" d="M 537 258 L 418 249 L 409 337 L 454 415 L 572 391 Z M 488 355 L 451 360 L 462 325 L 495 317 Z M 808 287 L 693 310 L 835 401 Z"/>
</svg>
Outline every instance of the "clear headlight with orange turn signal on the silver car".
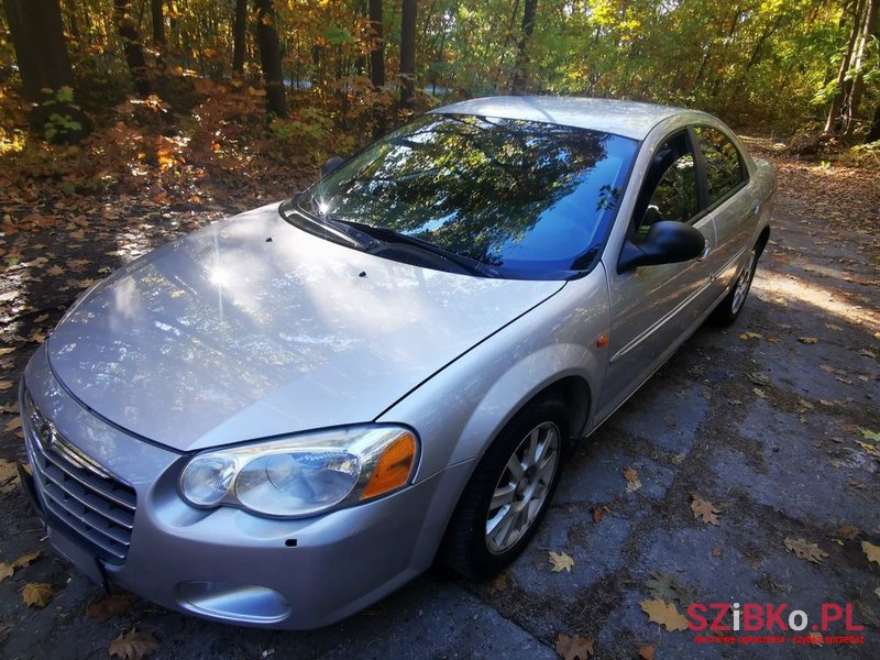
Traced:
<svg viewBox="0 0 880 660">
<path fill-rule="evenodd" d="M 398 426 L 360 426 L 200 453 L 180 475 L 189 504 L 295 518 L 372 499 L 409 483 L 418 440 Z"/>
</svg>

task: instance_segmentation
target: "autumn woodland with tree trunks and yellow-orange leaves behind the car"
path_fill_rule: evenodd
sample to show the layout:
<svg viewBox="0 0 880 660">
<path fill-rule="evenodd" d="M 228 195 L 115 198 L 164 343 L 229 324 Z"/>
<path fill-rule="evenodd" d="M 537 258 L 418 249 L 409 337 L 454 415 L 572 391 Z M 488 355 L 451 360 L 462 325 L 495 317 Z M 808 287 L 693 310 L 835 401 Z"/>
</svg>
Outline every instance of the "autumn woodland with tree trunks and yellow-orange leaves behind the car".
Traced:
<svg viewBox="0 0 880 660">
<path fill-rule="evenodd" d="M 880 0 L 2 6 L 12 202 L 147 189 L 222 204 L 314 175 L 413 112 L 494 94 L 675 103 L 802 151 L 880 153 Z"/>
</svg>

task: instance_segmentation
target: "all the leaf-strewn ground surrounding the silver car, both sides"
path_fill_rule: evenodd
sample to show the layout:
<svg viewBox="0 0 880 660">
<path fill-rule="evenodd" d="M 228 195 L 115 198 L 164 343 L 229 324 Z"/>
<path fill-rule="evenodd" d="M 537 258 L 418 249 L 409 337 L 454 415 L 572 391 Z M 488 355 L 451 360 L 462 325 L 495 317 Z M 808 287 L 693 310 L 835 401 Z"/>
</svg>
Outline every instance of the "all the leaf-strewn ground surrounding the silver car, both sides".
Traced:
<svg viewBox="0 0 880 660">
<path fill-rule="evenodd" d="M 146 646 L 156 659 L 532 659 L 554 658 L 564 645 L 582 659 L 587 649 L 598 658 L 876 658 L 880 176 L 749 144 L 774 162 L 780 187 L 771 241 L 737 323 L 701 329 L 582 444 L 539 534 L 497 580 L 475 584 L 438 568 L 312 632 L 108 602 L 47 547 L 10 471 L 23 458 L 18 378 L 80 290 L 172 237 L 300 182 L 222 201 L 205 190 L 195 201 L 191 191 L 168 199 L 0 190 L 0 657 L 102 658 L 136 628 L 155 640 Z M 570 558 L 570 570 L 553 571 L 550 552 Z M 669 629 L 669 608 L 656 615 L 666 625 L 649 620 L 644 607 L 657 601 L 678 612 L 691 602 L 788 603 L 811 624 L 823 603 L 849 605 L 864 644 L 696 644 L 694 632 Z"/>
</svg>

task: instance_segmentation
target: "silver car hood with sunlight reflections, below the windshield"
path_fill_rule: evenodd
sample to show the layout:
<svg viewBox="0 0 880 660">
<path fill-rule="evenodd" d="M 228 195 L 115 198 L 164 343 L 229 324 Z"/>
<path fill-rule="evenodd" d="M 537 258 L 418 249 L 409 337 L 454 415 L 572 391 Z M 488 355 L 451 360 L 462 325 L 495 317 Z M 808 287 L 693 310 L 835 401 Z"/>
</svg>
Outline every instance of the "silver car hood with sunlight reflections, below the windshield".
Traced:
<svg viewBox="0 0 880 660">
<path fill-rule="evenodd" d="M 370 421 L 564 285 L 372 256 L 277 207 L 88 292 L 48 340 L 56 377 L 107 420 L 182 451 Z"/>
</svg>

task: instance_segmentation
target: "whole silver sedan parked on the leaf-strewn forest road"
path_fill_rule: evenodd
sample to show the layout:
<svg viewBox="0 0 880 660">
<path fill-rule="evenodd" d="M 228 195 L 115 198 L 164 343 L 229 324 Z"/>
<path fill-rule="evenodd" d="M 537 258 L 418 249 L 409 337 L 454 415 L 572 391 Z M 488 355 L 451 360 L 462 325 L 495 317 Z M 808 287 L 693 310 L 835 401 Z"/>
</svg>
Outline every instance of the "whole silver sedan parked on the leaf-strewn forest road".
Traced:
<svg viewBox="0 0 880 660">
<path fill-rule="evenodd" d="M 22 482 L 97 583 L 218 622 L 491 575 L 574 443 L 737 318 L 774 189 L 703 112 L 433 110 L 81 296 L 22 380 Z"/>
</svg>

